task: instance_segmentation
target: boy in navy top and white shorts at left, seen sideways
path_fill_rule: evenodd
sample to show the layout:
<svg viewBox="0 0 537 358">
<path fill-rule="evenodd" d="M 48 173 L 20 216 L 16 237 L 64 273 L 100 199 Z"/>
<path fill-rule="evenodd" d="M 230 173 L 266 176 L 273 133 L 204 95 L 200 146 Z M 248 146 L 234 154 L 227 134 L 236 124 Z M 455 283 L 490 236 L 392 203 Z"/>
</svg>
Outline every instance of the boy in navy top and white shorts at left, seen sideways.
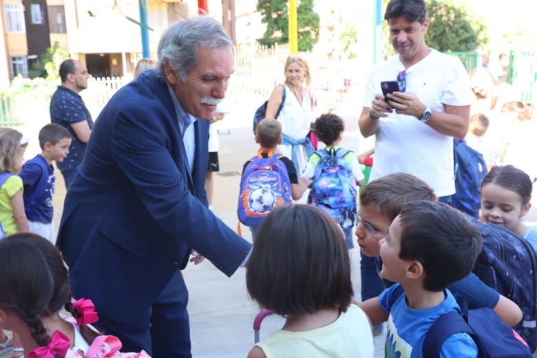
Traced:
<svg viewBox="0 0 537 358">
<path fill-rule="evenodd" d="M 32 233 L 52 243 L 55 241 L 52 196 L 56 185 L 52 162 L 61 162 L 69 154 L 71 140 L 71 134 L 61 125 L 45 125 L 39 131 L 41 154 L 25 162 L 19 174 L 24 183 L 24 211 L 28 227 Z"/>
</svg>

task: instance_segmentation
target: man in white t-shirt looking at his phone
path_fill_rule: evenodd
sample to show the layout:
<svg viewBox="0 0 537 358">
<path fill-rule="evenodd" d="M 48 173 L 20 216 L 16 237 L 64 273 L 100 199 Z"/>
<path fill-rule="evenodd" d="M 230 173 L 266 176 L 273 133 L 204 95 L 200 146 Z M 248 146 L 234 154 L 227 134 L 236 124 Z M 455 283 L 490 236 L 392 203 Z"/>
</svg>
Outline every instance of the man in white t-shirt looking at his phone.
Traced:
<svg viewBox="0 0 537 358">
<path fill-rule="evenodd" d="M 397 54 L 370 72 L 359 118 L 361 134 L 377 135 L 370 180 L 411 173 L 449 202 L 455 193 L 452 137 L 464 138 L 470 121 L 467 72 L 459 59 L 425 43 L 425 1 L 392 0 L 384 19 Z M 381 81 L 396 79 L 401 92 L 388 94 L 386 102 Z"/>
</svg>

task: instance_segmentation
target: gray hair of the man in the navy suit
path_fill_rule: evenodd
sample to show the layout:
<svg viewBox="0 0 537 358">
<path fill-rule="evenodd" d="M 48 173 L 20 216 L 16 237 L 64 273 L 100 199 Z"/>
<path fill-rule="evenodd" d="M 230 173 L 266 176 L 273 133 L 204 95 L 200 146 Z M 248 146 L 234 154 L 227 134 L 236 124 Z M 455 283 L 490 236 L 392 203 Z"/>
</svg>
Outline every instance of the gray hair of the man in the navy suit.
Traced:
<svg viewBox="0 0 537 358">
<path fill-rule="evenodd" d="M 233 43 L 222 25 L 211 17 L 194 17 L 171 25 L 158 43 L 156 76 L 166 78 L 164 64 L 178 72 L 181 81 L 187 82 L 187 73 L 198 65 L 198 49 L 227 47 Z"/>
</svg>

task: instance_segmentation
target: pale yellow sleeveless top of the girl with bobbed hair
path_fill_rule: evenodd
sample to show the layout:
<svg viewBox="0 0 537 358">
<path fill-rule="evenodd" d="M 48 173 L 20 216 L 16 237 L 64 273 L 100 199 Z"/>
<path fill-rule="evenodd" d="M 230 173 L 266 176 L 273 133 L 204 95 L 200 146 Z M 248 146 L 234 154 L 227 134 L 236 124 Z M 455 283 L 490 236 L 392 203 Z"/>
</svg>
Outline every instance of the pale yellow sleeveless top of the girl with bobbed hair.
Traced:
<svg viewBox="0 0 537 358">
<path fill-rule="evenodd" d="M 255 346 L 272 357 L 373 357 L 375 348 L 368 319 L 351 304 L 333 324 L 304 332 L 277 330 Z"/>
</svg>

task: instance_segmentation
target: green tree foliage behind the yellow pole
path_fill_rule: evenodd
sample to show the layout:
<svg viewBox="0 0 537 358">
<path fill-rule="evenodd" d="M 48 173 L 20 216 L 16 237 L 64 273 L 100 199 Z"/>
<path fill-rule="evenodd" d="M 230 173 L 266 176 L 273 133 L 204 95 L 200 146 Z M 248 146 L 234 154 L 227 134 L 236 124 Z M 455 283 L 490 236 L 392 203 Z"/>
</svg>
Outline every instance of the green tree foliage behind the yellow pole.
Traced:
<svg viewBox="0 0 537 358">
<path fill-rule="evenodd" d="M 257 0 L 266 31 L 257 41 L 261 45 L 289 41 L 289 12 L 287 0 Z M 297 6 L 298 50 L 309 51 L 319 41 L 319 15 L 313 11 L 313 0 L 299 0 Z"/>
</svg>

